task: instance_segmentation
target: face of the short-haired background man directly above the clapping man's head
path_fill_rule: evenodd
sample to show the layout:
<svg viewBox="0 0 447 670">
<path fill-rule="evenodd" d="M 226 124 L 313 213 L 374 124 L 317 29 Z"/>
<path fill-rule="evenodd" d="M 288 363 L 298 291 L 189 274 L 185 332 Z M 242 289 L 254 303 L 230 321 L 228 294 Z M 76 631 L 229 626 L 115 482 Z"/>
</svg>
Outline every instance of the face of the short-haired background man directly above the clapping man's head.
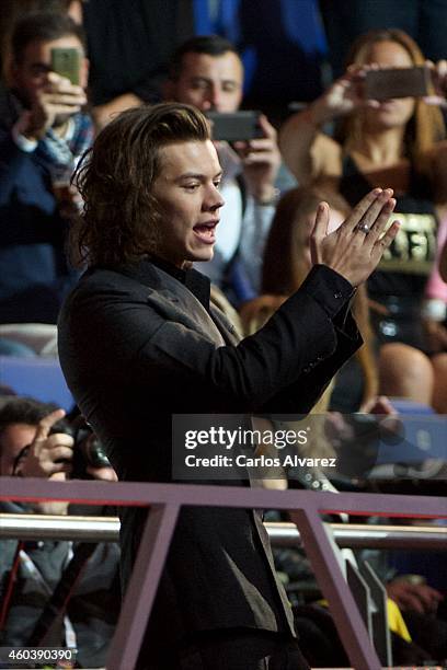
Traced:
<svg viewBox="0 0 447 670">
<path fill-rule="evenodd" d="M 169 82 L 168 95 L 200 112 L 236 112 L 242 99 L 243 69 L 232 51 L 222 56 L 185 54 L 179 79 Z"/>
</svg>

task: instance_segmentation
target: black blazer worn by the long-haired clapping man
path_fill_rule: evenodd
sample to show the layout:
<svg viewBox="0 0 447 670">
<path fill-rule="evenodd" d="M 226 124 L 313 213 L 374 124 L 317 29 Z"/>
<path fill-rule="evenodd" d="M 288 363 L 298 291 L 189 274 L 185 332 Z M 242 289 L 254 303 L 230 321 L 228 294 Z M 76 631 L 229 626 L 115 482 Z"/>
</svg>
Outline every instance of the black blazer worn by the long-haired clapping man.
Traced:
<svg viewBox="0 0 447 670">
<path fill-rule="evenodd" d="M 362 343 L 346 309 L 352 287 L 326 267 L 239 345 L 225 315 L 206 309 L 207 279 L 185 277 L 194 292 L 149 261 L 89 270 L 60 315 L 68 385 L 121 480 L 172 481 L 172 413 L 309 412 Z M 122 513 L 124 581 L 145 517 Z M 181 512 L 151 625 L 171 639 L 240 626 L 293 631 L 257 512 Z"/>
</svg>

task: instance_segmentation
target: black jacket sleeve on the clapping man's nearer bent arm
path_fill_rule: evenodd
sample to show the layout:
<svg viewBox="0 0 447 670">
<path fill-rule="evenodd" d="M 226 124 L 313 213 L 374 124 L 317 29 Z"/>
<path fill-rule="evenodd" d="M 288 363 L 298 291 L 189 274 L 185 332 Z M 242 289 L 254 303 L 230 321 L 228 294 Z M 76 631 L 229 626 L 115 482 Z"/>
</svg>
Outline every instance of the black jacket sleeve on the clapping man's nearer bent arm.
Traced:
<svg viewBox="0 0 447 670">
<path fill-rule="evenodd" d="M 240 412 L 300 412 L 312 406 L 362 343 L 353 322 L 352 333 L 336 325 L 336 314 L 352 292 L 339 275 L 316 267 L 268 323 L 238 346 L 217 346 L 159 314 L 150 297 L 142 301 L 125 290 L 81 293 L 64 326 L 112 383 L 131 378 L 136 384 L 158 379 L 191 385 L 216 398 L 216 412 L 229 406 Z M 283 402 L 287 408 L 280 408 Z"/>
</svg>

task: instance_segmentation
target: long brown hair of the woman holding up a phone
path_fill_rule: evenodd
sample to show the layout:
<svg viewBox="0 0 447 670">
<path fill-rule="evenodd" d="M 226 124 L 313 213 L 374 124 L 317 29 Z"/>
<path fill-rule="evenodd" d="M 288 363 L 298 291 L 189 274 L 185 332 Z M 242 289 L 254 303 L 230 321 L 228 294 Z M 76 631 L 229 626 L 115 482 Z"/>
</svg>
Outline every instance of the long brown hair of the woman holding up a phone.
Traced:
<svg viewBox="0 0 447 670">
<path fill-rule="evenodd" d="M 425 57 L 417 44 L 403 31 L 387 28 L 370 31 L 360 35 L 353 44 L 346 65 L 363 66 L 368 62 L 371 46 L 378 42 L 396 42 L 405 49 L 414 66 L 424 66 Z M 414 162 L 416 169 L 426 171 L 424 154 L 433 146 L 445 139 L 445 124 L 438 107 L 427 105 L 422 99 L 415 100 L 414 114 L 406 124 L 404 136 L 405 157 Z M 362 138 L 362 115 L 352 114 L 341 120 L 337 139 L 346 148 Z"/>
</svg>

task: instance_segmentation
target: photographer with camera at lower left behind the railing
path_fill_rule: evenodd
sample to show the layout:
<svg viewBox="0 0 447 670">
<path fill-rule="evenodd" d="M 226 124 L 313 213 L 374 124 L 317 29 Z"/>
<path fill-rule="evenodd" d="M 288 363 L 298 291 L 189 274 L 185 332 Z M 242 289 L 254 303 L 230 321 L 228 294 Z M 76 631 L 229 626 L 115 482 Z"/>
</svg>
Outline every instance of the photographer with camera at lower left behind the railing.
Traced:
<svg viewBox="0 0 447 670">
<path fill-rule="evenodd" d="M 31 398 L 5 404 L 0 409 L 0 475 L 59 481 L 70 476 L 73 454 L 80 452 L 85 460 L 85 438 L 80 442 L 69 435 L 72 427 L 64 417 L 55 405 Z M 116 478 L 110 465 L 96 469 L 85 461 L 88 475 Z M 51 501 L 2 503 L 0 510 L 71 511 L 67 503 Z M 0 644 L 77 647 L 80 667 L 104 666 L 119 608 L 118 547 L 47 540 L 2 540 L 0 545 Z"/>
</svg>

